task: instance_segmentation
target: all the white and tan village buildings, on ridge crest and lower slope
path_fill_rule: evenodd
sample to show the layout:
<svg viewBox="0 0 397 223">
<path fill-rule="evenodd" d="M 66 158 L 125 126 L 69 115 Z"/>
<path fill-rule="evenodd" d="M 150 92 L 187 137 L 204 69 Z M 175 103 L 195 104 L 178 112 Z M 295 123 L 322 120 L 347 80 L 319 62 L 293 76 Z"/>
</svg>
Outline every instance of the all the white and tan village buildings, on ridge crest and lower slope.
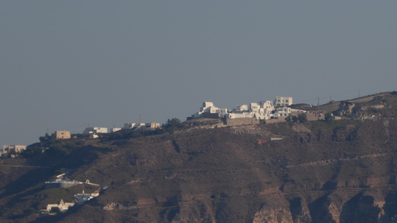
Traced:
<svg viewBox="0 0 397 223">
<path fill-rule="evenodd" d="M 237 105 L 236 108 L 228 110 L 228 108 L 217 108 L 212 102 L 203 102 L 200 110 L 187 120 L 194 120 L 199 118 L 211 118 L 211 119 L 223 119 L 225 120 L 225 125 L 252 125 L 257 124 L 263 120 L 266 122 L 284 122 L 290 115 L 297 115 L 298 113 L 307 113 L 308 120 L 319 120 L 323 119 L 323 114 L 313 114 L 308 113 L 305 110 L 293 109 L 290 106 L 293 104 L 292 97 L 279 97 L 277 96 L 274 101 L 260 101 L 258 103 L 249 103 L 245 105 Z M 125 123 L 123 127 L 86 127 L 82 132 L 82 136 L 95 139 L 99 135 L 107 134 L 111 132 L 117 132 L 119 130 L 155 130 L 160 128 L 160 123 L 149 122 L 149 123 Z M 55 139 L 71 139 L 76 138 L 77 134 L 71 134 L 69 131 L 55 131 L 53 134 Z M 273 140 L 273 139 L 272 139 Z M 274 140 L 279 140 L 279 138 L 274 138 Z M 16 154 L 21 153 L 25 150 L 24 145 L 4 145 L 2 151 L 0 151 L 0 156 L 3 158 L 9 157 L 13 158 Z M 101 190 L 100 185 L 95 183 L 79 182 L 73 181 L 66 177 L 67 173 L 57 176 L 55 181 L 45 182 L 45 189 L 50 188 L 69 188 L 74 185 L 89 184 L 95 185 L 99 188 L 94 191 L 94 193 L 82 193 L 74 195 L 74 202 L 64 202 L 60 200 L 59 204 L 48 204 L 40 213 L 43 215 L 56 215 L 58 212 L 67 212 L 69 207 L 74 205 L 82 204 L 92 198 L 99 196 Z"/>
</svg>

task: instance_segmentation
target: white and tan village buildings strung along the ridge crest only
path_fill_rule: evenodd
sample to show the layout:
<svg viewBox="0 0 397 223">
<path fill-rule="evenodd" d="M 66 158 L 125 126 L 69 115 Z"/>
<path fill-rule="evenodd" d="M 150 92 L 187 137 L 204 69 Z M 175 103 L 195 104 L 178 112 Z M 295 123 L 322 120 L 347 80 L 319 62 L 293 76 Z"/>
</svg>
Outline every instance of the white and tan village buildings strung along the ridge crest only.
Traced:
<svg viewBox="0 0 397 223">
<path fill-rule="evenodd" d="M 198 118 L 213 118 L 224 120 L 223 126 L 231 125 L 254 125 L 260 122 L 274 123 L 284 122 L 290 115 L 298 115 L 298 113 L 306 113 L 308 120 L 320 120 L 324 118 L 323 114 L 309 113 L 306 110 L 298 110 L 291 108 L 293 104 L 292 97 L 276 96 L 273 101 L 259 101 L 257 103 L 248 103 L 245 105 L 237 105 L 229 110 L 228 108 L 218 108 L 212 102 L 203 102 L 200 110 L 187 120 Z M 89 139 L 98 138 L 101 134 L 117 132 L 119 130 L 155 130 L 160 128 L 160 123 L 125 123 L 123 127 L 86 127 L 82 132 L 84 137 Z M 55 139 L 76 138 L 77 134 L 71 134 L 69 131 L 55 131 Z M 0 157 L 13 157 L 15 154 L 25 150 L 23 145 L 4 145 L 0 151 Z"/>
</svg>

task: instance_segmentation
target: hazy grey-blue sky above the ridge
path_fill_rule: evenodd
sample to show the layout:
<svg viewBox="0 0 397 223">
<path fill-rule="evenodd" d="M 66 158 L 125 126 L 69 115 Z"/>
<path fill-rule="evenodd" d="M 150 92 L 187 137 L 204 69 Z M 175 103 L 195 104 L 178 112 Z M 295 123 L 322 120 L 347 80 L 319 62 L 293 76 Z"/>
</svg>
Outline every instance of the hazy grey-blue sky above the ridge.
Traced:
<svg viewBox="0 0 397 223">
<path fill-rule="evenodd" d="M 0 1 L 0 145 L 396 90 L 397 1 Z"/>
</svg>

